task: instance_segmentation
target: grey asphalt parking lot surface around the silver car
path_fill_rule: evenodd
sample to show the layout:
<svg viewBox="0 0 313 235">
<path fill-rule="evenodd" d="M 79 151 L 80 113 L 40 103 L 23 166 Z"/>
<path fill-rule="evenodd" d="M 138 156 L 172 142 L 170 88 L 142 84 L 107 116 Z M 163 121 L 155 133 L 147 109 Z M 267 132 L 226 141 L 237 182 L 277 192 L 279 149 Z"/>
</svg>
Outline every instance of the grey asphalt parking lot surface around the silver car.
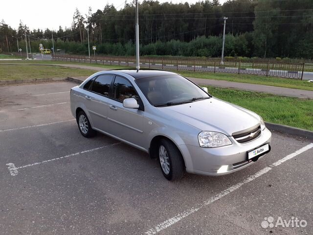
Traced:
<svg viewBox="0 0 313 235">
<path fill-rule="evenodd" d="M 271 152 L 244 170 L 172 183 L 146 153 L 81 136 L 75 85 L 0 86 L 1 235 L 313 234 L 311 141 L 272 132 Z"/>
</svg>

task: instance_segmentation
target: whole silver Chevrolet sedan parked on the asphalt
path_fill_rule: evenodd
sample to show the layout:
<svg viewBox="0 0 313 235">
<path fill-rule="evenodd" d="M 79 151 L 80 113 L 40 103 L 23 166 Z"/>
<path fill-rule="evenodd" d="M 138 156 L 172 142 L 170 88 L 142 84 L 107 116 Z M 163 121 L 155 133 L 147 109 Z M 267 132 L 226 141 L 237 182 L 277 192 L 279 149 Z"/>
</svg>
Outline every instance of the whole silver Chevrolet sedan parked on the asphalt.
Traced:
<svg viewBox="0 0 313 235">
<path fill-rule="evenodd" d="M 259 115 L 174 72 L 96 72 L 71 89 L 70 107 L 84 137 L 101 132 L 149 153 L 168 180 L 228 174 L 270 151 Z"/>
</svg>

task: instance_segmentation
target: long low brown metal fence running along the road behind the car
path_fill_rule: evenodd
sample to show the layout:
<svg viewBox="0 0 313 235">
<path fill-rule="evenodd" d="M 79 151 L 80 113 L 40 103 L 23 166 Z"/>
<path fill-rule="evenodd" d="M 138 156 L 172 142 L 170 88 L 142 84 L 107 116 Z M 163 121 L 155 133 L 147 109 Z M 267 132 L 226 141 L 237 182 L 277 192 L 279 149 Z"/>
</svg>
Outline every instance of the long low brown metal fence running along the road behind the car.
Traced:
<svg viewBox="0 0 313 235">
<path fill-rule="evenodd" d="M 80 55 L 53 55 L 53 60 L 96 63 L 102 65 L 118 65 L 135 67 L 135 57 L 120 56 L 80 56 Z M 313 72 L 313 64 L 288 63 L 275 61 L 224 61 L 194 58 L 163 58 L 141 57 L 140 67 L 162 70 L 185 70 L 204 72 L 227 72 L 238 74 L 257 74 L 293 79 L 303 79 L 305 72 Z M 312 73 L 313 74 L 313 73 Z"/>
</svg>

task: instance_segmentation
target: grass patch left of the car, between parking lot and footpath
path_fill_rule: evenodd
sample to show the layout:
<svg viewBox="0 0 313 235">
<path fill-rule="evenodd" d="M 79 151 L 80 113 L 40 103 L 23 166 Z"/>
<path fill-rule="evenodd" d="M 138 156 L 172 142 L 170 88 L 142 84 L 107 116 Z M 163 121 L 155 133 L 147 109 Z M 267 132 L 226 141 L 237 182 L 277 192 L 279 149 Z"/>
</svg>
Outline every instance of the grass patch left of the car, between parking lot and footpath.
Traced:
<svg viewBox="0 0 313 235">
<path fill-rule="evenodd" d="M 52 78 L 67 76 L 90 76 L 95 71 L 72 69 L 59 66 L 1 65 L 0 80 L 27 78 Z"/>
</svg>

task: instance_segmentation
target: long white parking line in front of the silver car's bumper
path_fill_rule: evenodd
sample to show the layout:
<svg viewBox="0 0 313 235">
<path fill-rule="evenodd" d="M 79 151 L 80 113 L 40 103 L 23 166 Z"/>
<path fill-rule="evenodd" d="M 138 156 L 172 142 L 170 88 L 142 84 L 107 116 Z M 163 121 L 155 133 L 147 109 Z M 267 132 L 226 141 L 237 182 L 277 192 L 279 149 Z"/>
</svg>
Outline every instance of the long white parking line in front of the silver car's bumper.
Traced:
<svg viewBox="0 0 313 235">
<path fill-rule="evenodd" d="M 276 163 L 274 164 L 271 164 L 270 166 L 272 167 L 275 167 L 277 165 L 280 165 L 282 164 L 283 162 L 286 162 L 287 160 L 290 160 L 291 158 L 309 150 L 310 148 L 313 147 L 313 143 L 310 143 L 308 144 L 307 146 L 295 151 L 294 153 L 291 153 L 290 155 L 284 157 L 283 159 L 277 161 Z M 249 183 L 253 180 L 255 180 L 256 178 L 260 177 L 261 175 L 267 173 L 269 170 L 271 170 L 272 168 L 267 166 L 265 168 L 263 168 L 262 170 L 258 171 L 257 173 L 255 173 L 254 175 L 246 178 L 245 180 L 243 180 L 242 182 L 236 184 L 236 185 L 233 185 L 229 188 L 226 188 L 225 190 L 223 190 L 222 192 L 216 194 L 215 196 L 211 197 L 211 199 L 209 199 L 208 201 L 205 201 L 203 202 L 202 204 L 200 204 L 199 206 L 195 207 L 195 208 L 192 208 L 192 209 L 189 209 L 187 211 L 183 211 L 182 213 L 179 213 L 177 214 L 176 216 L 172 217 L 172 218 L 169 218 L 167 220 L 165 220 L 164 222 L 156 225 L 154 228 L 151 228 L 149 229 L 147 232 L 145 232 L 144 234 L 146 235 L 154 235 L 154 234 L 157 234 L 158 232 L 172 226 L 173 224 L 179 222 L 179 220 L 187 217 L 188 215 L 196 212 L 196 211 L 199 211 L 201 208 L 215 202 L 216 200 L 219 200 L 221 199 L 222 197 L 228 195 L 229 193 L 235 191 L 236 189 L 242 187 L 243 185 L 245 185 L 246 183 Z"/>
</svg>

